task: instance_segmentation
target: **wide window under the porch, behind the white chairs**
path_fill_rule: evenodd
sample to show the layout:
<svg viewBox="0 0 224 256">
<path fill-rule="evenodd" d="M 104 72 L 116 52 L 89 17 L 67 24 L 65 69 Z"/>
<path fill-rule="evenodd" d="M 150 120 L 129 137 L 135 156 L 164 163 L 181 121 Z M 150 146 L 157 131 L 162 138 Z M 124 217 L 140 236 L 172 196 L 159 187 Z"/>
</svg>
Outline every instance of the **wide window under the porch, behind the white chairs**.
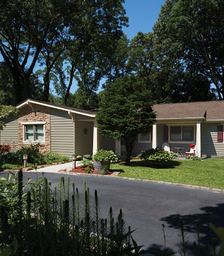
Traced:
<svg viewBox="0 0 224 256">
<path fill-rule="evenodd" d="M 169 141 L 194 141 L 195 126 L 170 126 Z"/>
</svg>

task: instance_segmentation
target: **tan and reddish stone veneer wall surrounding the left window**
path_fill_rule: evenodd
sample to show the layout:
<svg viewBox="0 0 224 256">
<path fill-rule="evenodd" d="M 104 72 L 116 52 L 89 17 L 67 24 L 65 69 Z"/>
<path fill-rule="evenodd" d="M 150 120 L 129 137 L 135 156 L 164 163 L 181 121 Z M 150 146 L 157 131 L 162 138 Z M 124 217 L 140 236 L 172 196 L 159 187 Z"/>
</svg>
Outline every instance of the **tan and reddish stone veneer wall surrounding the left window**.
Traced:
<svg viewBox="0 0 224 256">
<path fill-rule="evenodd" d="M 18 148 L 28 146 L 30 143 L 23 143 L 23 124 L 21 122 L 46 122 L 45 128 L 45 144 L 41 144 L 41 153 L 47 154 L 50 151 L 50 108 L 45 106 L 34 106 L 34 111 L 30 106 L 20 110 L 21 115 L 18 119 Z"/>
</svg>

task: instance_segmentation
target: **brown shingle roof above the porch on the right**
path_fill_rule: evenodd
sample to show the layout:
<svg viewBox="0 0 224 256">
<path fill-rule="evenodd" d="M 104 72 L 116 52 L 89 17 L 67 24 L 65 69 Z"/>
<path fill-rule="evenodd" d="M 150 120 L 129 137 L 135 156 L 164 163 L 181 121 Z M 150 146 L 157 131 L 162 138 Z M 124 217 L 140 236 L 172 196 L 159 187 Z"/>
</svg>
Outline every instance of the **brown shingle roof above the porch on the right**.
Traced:
<svg viewBox="0 0 224 256">
<path fill-rule="evenodd" d="M 224 120 L 224 100 L 155 104 L 156 119 L 197 118 Z"/>
</svg>

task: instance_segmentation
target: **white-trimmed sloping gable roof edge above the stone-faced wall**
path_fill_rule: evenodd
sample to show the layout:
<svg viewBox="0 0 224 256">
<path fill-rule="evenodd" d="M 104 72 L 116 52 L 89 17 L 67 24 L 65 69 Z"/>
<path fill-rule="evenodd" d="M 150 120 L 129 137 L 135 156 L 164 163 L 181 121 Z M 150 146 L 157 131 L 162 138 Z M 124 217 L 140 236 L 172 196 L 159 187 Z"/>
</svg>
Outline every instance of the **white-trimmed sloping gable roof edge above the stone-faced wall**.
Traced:
<svg viewBox="0 0 224 256">
<path fill-rule="evenodd" d="M 27 99 L 21 102 L 19 105 L 16 106 L 16 108 L 21 109 L 27 106 L 28 104 L 38 104 L 41 106 L 47 106 L 49 108 L 56 108 L 58 110 L 64 110 L 64 111 L 70 111 L 71 113 L 77 113 L 80 115 L 86 115 L 87 117 L 95 117 L 96 113 L 95 111 L 90 110 L 81 110 L 79 108 L 72 108 L 68 106 L 62 106 L 55 103 L 45 102 L 41 100 L 34 100 L 34 99 Z"/>
</svg>

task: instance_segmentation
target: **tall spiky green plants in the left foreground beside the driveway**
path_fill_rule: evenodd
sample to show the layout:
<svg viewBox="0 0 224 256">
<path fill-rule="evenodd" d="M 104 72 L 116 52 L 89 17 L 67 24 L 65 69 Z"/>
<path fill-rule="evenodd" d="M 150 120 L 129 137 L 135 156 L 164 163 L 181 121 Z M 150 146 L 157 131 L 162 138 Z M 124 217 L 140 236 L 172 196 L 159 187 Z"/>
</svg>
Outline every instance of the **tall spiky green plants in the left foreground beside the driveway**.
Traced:
<svg viewBox="0 0 224 256">
<path fill-rule="evenodd" d="M 66 183 L 66 184 L 65 184 Z M 126 227 L 122 210 L 115 220 L 100 218 L 98 195 L 90 211 L 89 189 L 84 184 L 84 204 L 69 176 L 60 178 L 59 189 L 42 177 L 23 183 L 8 174 L 1 178 L 0 254 L 4 255 L 139 255 L 140 247 L 131 244 L 131 229 Z M 3 188 L 3 187 L 1 187 Z"/>
</svg>

